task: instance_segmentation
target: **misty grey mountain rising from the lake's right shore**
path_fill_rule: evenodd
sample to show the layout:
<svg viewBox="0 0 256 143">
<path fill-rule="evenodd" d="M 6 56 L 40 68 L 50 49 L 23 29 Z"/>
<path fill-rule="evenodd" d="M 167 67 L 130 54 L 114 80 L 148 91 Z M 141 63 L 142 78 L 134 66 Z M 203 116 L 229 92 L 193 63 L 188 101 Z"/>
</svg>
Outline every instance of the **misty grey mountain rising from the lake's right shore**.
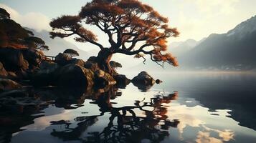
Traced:
<svg viewBox="0 0 256 143">
<path fill-rule="evenodd" d="M 256 16 L 226 34 L 211 34 L 178 58 L 189 69 L 248 70 L 256 66 Z"/>
</svg>

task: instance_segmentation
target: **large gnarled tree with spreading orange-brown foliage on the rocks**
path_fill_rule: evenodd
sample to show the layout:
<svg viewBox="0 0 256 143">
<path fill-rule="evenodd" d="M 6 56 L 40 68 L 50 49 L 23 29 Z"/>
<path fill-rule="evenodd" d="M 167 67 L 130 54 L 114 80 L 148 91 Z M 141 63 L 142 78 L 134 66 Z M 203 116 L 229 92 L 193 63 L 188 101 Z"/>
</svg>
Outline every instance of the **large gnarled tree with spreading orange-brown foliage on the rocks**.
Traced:
<svg viewBox="0 0 256 143">
<path fill-rule="evenodd" d="M 109 62 L 116 53 L 149 55 L 152 61 L 161 66 L 164 62 L 178 66 L 174 56 L 163 53 L 167 50 L 167 38 L 179 36 L 179 32 L 167 23 L 166 17 L 137 0 L 93 0 L 83 6 L 77 16 L 65 15 L 53 19 L 50 34 L 52 38 L 76 36 L 75 41 L 98 46 L 98 65 L 111 74 Z M 97 26 L 108 36 L 110 47 L 98 43 L 93 31 L 82 24 Z"/>
</svg>

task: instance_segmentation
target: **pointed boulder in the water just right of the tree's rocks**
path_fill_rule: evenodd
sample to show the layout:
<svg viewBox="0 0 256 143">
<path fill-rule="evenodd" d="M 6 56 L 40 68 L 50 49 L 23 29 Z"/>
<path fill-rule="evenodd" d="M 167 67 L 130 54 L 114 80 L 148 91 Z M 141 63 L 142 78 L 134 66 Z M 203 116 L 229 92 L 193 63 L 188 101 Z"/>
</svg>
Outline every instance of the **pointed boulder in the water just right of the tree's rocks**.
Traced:
<svg viewBox="0 0 256 143">
<path fill-rule="evenodd" d="M 153 85 L 155 80 L 146 72 L 141 71 L 136 77 L 132 79 L 133 84 Z"/>
</svg>

